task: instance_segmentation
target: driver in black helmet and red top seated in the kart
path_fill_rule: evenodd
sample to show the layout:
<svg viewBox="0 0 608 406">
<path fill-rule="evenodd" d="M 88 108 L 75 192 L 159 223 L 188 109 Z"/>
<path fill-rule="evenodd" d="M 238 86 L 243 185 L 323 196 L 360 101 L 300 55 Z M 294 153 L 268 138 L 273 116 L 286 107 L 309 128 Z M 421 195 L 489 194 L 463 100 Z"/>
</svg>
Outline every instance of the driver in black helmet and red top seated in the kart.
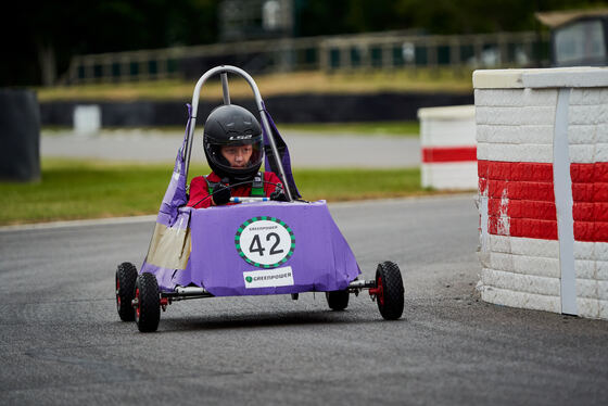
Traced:
<svg viewBox="0 0 608 406">
<path fill-rule="evenodd" d="M 203 149 L 213 172 L 190 181 L 188 206 L 223 205 L 230 196 L 287 201 L 279 177 L 259 172 L 264 160 L 262 128 L 248 110 L 236 104 L 214 109 L 205 123 Z"/>
</svg>

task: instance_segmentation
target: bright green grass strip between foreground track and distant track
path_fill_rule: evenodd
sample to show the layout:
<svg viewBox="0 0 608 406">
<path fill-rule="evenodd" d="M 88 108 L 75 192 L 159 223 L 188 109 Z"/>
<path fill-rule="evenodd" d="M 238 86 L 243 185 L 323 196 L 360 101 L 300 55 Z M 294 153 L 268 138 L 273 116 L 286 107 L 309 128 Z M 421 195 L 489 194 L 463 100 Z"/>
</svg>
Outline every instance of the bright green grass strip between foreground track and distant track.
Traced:
<svg viewBox="0 0 608 406">
<path fill-rule="evenodd" d="M 43 160 L 38 182 L 0 182 L 0 225 L 157 213 L 170 165 Z M 192 165 L 190 173 L 208 173 Z M 330 202 L 430 193 L 418 168 L 297 169 L 304 199 Z"/>
</svg>

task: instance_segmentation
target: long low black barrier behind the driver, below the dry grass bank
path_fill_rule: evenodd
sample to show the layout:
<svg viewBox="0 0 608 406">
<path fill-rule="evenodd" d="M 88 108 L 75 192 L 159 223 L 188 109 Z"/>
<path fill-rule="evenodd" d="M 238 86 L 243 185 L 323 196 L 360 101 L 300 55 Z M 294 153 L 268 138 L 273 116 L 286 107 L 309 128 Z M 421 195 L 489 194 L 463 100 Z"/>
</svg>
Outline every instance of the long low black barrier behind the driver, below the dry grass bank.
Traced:
<svg viewBox="0 0 608 406">
<path fill-rule="evenodd" d="M 46 102 L 40 104 L 42 125 L 73 126 L 76 105 L 99 104 L 102 127 L 182 126 L 187 120 L 183 101 L 137 102 Z M 416 120 L 418 109 L 472 104 L 472 93 L 372 93 L 372 94 L 289 94 L 264 99 L 275 122 L 355 123 L 380 120 Z M 232 103 L 255 112 L 253 99 L 235 99 Z M 201 100 L 199 116 L 221 104 Z M 203 119 L 204 122 L 204 119 Z"/>
</svg>

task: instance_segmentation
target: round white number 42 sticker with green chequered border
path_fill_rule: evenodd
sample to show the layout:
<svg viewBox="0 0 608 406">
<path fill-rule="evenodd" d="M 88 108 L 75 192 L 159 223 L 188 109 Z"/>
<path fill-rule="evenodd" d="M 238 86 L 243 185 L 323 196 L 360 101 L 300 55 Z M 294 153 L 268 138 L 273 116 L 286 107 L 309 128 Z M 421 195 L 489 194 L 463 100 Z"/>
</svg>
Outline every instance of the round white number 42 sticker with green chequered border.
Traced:
<svg viewBox="0 0 608 406">
<path fill-rule="evenodd" d="M 284 264 L 295 249 L 293 231 L 276 217 L 253 217 L 244 221 L 235 236 L 239 256 L 258 268 Z"/>
</svg>

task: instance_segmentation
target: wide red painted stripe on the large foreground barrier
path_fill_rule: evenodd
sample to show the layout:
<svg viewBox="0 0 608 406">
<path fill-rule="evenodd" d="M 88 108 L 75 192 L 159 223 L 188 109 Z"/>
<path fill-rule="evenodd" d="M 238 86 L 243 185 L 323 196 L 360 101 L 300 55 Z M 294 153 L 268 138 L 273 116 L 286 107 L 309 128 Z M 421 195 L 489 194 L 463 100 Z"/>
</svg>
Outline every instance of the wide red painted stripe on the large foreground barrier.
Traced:
<svg viewBox="0 0 608 406">
<path fill-rule="evenodd" d="M 557 240 L 553 165 L 479 161 L 489 232 Z M 571 164 L 577 241 L 608 242 L 608 163 Z"/>
</svg>

